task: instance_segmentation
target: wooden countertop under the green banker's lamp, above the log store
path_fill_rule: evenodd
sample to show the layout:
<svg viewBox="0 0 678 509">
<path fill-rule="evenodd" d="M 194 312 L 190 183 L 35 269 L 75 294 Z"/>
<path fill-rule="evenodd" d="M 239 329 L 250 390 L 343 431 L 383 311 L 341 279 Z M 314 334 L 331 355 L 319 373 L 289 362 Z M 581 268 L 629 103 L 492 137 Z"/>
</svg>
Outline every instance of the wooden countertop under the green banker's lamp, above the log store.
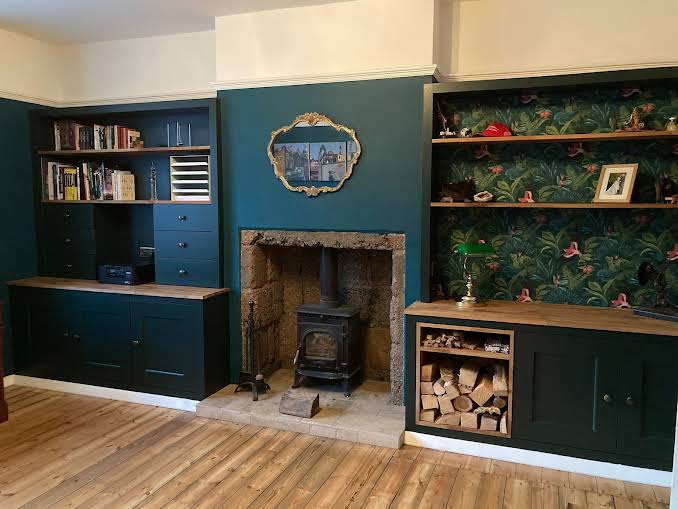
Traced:
<svg viewBox="0 0 678 509">
<path fill-rule="evenodd" d="M 454 301 L 415 302 L 405 314 L 485 322 L 543 325 L 660 336 L 678 336 L 678 323 L 636 316 L 630 309 L 492 300 L 486 307 L 460 309 Z"/>
</svg>

